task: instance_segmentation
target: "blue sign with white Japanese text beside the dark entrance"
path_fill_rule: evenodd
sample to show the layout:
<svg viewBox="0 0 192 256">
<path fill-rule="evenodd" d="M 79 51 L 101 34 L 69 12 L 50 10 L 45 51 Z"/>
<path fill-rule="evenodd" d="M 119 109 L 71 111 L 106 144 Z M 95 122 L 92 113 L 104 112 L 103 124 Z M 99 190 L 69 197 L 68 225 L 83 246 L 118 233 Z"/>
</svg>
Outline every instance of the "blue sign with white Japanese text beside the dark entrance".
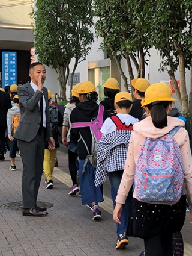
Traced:
<svg viewBox="0 0 192 256">
<path fill-rule="evenodd" d="M 17 52 L 2 52 L 2 87 L 17 84 Z"/>
</svg>

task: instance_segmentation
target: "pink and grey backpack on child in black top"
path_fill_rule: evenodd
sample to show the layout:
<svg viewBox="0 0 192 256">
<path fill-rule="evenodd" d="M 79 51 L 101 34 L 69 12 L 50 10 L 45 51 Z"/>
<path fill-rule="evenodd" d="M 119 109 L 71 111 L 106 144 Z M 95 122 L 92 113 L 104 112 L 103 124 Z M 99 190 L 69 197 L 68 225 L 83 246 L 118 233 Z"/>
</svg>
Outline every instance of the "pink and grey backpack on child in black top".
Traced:
<svg viewBox="0 0 192 256">
<path fill-rule="evenodd" d="M 80 138 L 82 139 L 83 143 L 85 144 L 85 148 L 88 151 L 88 160 L 92 164 L 92 166 L 96 167 L 97 164 L 97 142 L 101 139 L 102 133 L 100 129 L 103 125 L 103 113 L 104 107 L 103 105 L 99 105 L 98 114 L 96 118 L 93 118 L 91 122 L 82 122 L 82 123 L 71 123 L 72 128 L 85 128 L 89 127 L 92 135 L 92 145 L 91 145 L 91 155 L 89 154 L 88 146 L 86 145 L 85 140 L 80 134 Z"/>
</svg>

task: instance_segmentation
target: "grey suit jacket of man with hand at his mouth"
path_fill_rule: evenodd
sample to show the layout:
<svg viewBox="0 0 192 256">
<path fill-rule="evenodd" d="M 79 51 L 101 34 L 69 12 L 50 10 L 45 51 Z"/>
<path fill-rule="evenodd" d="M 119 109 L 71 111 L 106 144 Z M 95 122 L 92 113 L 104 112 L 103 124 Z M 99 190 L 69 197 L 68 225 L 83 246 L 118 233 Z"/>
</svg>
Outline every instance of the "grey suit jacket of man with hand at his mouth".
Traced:
<svg viewBox="0 0 192 256">
<path fill-rule="evenodd" d="M 35 138 L 41 122 L 38 101 L 43 95 L 46 100 L 46 139 L 52 137 L 47 88 L 43 87 L 43 93 L 38 90 L 34 92 L 31 84 L 28 82 L 18 87 L 17 94 L 20 101 L 20 122 L 13 137 L 15 139 L 24 140 L 25 142 L 31 142 L 31 140 Z"/>
</svg>

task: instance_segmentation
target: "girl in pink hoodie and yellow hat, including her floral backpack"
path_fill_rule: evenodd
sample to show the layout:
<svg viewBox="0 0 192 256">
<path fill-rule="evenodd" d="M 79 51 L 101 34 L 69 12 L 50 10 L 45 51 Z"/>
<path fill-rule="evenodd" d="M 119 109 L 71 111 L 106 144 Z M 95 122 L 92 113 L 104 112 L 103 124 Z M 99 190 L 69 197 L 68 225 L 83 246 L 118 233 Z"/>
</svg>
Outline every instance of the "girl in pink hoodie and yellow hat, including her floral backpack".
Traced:
<svg viewBox="0 0 192 256">
<path fill-rule="evenodd" d="M 134 182 L 133 207 L 127 234 L 144 239 L 146 255 L 173 255 L 173 233 L 180 231 L 184 225 L 186 193 L 192 206 L 192 157 L 189 136 L 184 128 L 184 121 L 168 116 L 172 110 L 173 101 L 176 99 L 172 97 L 172 90 L 167 84 L 156 83 L 146 89 L 145 98 L 141 103 L 147 117 L 133 125 L 134 131 L 130 138 L 124 175 L 113 211 L 113 219 L 119 223 L 122 206 Z M 147 145 L 149 145 L 148 148 L 146 148 Z M 151 152 L 154 153 L 151 155 Z M 166 155 L 163 155 L 163 152 Z M 142 157 L 147 155 L 151 157 L 146 157 L 144 160 Z M 169 170 L 170 163 L 173 166 L 171 170 Z M 156 170 L 159 173 L 157 175 L 155 175 Z M 175 170 L 173 175 L 160 174 L 161 172 L 169 173 L 172 170 Z M 177 176 L 178 180 L 168 183 L 169 178 L 176 177 L 178 173 L 180 175 Z M 145 175 L 148 176 L 143 183 Z M 160 187 L 155 185 L 154 190 L 147 193 L 150 200 L 141 199 L 146 196 L 148 188 L 157 184 L 157 181 Z M 169 190 L 166 190 L 165 184 L 170 184 L 167 189 L 172 187 L 172 193 L 167 194 Z M 139 194 L 138 191 L 140 191 Z M 161 192 L 165 193 L 161 195 Z M 173 199 L 178 195 L 178 198 L 169 203 L 165 199 L 169 195 L 174 195 Z M 152 202 L 154 196 L 156 201 Z M 192 224 L 192 207 L 190 217 Z M 140 256 L 143 255 L 144 252 L 140 254 Z"/>
</svg>

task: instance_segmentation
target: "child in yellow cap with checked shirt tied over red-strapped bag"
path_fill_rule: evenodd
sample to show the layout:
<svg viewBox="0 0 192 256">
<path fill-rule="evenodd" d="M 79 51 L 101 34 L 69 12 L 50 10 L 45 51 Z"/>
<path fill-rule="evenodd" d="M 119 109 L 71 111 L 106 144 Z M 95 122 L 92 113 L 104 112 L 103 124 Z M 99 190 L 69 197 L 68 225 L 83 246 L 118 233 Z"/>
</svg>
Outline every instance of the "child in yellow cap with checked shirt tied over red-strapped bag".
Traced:
<svg viewBox="0 0 192 256">
<path fill-rule="evenodd" d="M 95 183 L 97 186 L 103 184 L 105 181 L 104 172 L 108 173 L 114 207 L 124 170 L 130 136 L 133 131 L 133 124 L 139 122 L 139 119 L 129 114 L 132 104 L 133 100 L 130 93 L 119 92 L 115 95 L 114 105 L 117 114 L 105 120 L 101 127 L 101 133 L 105 135 L 97 145 L 98 160 Z M 132 193 L 130 192 L 122 209 L 121 224 L 117 225 L 115 249 L 123 249 L 128 245 L 126 230 L 131 210 L 131 199 Z"/>
</svg>

